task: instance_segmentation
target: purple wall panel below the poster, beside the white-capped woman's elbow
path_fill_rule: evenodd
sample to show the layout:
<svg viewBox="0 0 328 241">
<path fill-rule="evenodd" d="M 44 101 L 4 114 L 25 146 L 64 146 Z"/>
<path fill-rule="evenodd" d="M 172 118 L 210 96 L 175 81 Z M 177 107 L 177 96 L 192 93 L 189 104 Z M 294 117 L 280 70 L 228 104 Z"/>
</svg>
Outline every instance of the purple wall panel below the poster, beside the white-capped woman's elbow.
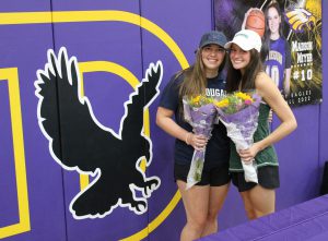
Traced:
<svg viewBox="0 0 328 241">
<path fill-rule="evenodd" d="M 276 144 L 281 176 L 278 210 L 318 195 L 318 105 L 294 108 L 296 131 Z"/>
</svg>

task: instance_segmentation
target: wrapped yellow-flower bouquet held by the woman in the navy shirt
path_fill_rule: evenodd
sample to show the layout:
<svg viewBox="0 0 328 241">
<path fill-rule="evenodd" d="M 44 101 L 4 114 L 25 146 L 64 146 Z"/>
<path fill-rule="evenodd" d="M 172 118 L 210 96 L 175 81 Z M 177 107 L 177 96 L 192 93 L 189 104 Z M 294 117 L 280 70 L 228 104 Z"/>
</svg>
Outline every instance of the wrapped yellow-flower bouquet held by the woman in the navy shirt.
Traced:
<svg viewBox="0 0 328 241">
<path fill-rule="evenodd" d="M 194 133 L 210 138 L 216 116 L 213 99 L 203 95 L 194 97 L 185 96 L 183 103 L 185 120 L 192 126 Z M 186 189 L 191 188 L 201 180 L 204 154 L 204 148 L 194 150 Z"/>
</svg>

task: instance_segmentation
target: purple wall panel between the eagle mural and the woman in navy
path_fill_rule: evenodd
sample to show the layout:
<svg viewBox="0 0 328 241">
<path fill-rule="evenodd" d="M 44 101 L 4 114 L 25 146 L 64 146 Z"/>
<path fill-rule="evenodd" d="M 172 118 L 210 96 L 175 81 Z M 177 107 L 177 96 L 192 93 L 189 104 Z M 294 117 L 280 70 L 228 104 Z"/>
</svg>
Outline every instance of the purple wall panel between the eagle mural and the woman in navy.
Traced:
<svg viewBox="0 0 328 241">
<path fill-rule="evenodd" d="M 174 8 L 173 8 L 174 7 Z M 196 13 L 198 16 L 195 17 Z M 198 47 L 200 36 L 211 29 L 211 1 L 141 1 L 141 15 L 161 27 L 180 48 L 184 58 L 189 64 L 195 59 L 194 51 Z M 164 74 L 160 86 L 161 91 L 168 83 L 171 76 L 183 69 L 174 52 L 169 50 L 163 40 L 147 29 L 142 29 L 143 68 L 150 62 L 161 60 Z M 186 67 L 184 67 L 186 68 Z M 174 140 L 164 133 L 155 124 L 155 113 L 159 104 L 157 98 L 151 106 L 151 137 L 154 143 L 153 164 L 149 173 L 161 178 L 162 184 L 150 200 L 150 221 L 162 214 L 165 207 L 173 208 L 169 204 L 177 191 L 173 179 L 173 146 Z M 178 240 L 180 230 L 185 224 L 185 210 L 179 204 L 169 216 L 145 240 Z M 165 233 L 165 234 L 164 234 Z"/>
</svg>

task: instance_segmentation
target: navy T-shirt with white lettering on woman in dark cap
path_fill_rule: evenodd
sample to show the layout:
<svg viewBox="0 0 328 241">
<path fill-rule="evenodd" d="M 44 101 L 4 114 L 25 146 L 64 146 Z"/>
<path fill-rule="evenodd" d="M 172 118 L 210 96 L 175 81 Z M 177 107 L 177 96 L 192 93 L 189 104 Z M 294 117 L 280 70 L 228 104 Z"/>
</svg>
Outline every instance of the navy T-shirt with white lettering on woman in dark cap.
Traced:
<svg viewBox="0 0 328 241">
<path fill-rule="evenodd" d="M 178 125 L 187 130 L 192 131 L 191 125 L 189 125 L 183 117 L 181 111 L 179 111 L 179 85 L 184 80 L 184 74 L 178 77 L 173 76 L 169 83 L 164 88 L 160 107 L 173 110 L 175 113 L 175 121 Z M 215 97 L 224 93 L 225 88 L 225 76 L 224 74 L 219 74 L 216 77 L 208 79 L 208 86 L 206 93 L 208 96 Z M 175 152 L 174 159 L 176 164 L 189 165 L 191 162 L 194 154 L 194 147 L 187 145 L 185 142 L 176 138 L 175 141 Z M 226 129 L 222 123 L 214 124 L 212 130 L 212 136 L 209 140 L 206 148 L 206 160 L 204 168 L 214 167 L 227 162 L 230 157 L 230 141 L 226 135 Z"/>
</svg>

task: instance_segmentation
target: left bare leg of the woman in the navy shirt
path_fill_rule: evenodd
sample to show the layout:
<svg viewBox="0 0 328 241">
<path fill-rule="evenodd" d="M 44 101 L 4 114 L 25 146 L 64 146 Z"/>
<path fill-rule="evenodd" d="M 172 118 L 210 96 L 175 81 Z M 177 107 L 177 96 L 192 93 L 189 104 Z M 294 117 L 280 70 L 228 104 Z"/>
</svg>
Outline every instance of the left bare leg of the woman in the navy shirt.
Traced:
<svg viewBox="0 0 328 241">
<path fill-rule="evenodd" d="M 199 239 L 207 222 L 210 186 L 194 185 L 186 191 L 186 182 L 180 180 L 177 181 L 177 185 L 187 215 L 187 224 L 181 231 L 180 241 Z"/>
</svg>

